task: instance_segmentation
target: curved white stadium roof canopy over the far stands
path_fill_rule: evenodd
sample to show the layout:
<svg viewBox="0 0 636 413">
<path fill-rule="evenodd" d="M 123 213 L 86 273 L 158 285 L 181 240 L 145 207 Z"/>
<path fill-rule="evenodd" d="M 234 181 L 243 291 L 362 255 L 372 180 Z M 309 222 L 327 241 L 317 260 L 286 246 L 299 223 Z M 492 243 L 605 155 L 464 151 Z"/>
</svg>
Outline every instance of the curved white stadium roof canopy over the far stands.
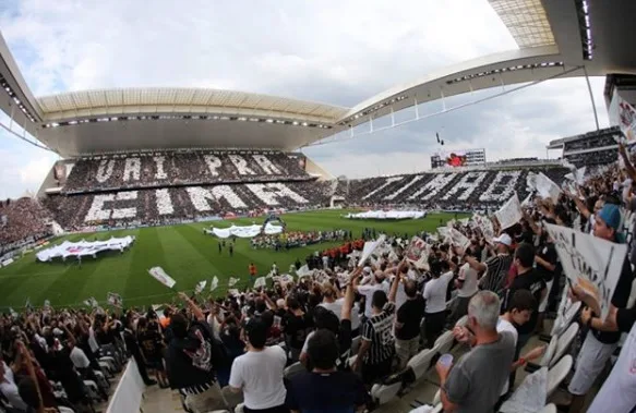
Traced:
<svg viewBox="0 0 636 413">
<path fill-rule="evenodd" d="M 132 88 L 35 98 L 0 36 L 0 108 L 62 156 L 184 147 L 292 150 L 435 99 L 549 78 L 636 74 L 633 0 L 489 0 L 517 42 L 353 108 L 243 92 Z"/>
</svg>

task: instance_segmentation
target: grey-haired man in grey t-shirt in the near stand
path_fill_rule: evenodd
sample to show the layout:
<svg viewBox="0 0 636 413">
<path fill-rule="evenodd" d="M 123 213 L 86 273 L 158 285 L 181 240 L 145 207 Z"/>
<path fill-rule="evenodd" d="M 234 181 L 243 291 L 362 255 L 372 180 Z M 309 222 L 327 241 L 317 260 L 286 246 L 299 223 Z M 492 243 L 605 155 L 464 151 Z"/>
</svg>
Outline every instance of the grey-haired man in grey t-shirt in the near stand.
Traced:
<svg viewBox="0 0 636 413">
<path fill-rule="evenodd" d="M 496 330 L 500 307 L 491 291 L 480 291 L 470 300 L 467 327 L 475 332 L 475 347 L 455 365 L 435 365 L 444 411 L 490 412 L 497 402 L 515 355 L 513 335 Z"/>
</svg>

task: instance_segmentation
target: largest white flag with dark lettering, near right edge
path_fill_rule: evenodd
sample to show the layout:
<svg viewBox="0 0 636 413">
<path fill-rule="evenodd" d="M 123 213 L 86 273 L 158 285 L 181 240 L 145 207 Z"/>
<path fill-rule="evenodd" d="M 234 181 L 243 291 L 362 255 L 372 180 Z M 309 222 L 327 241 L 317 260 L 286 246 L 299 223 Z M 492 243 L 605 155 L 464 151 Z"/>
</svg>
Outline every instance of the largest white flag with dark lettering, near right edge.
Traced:
<svg viewBox="0 0 636 413">
<path fill-rule="evenodd" d="M 621 277 L 627 245 L 566 227 L 544 224 L 554 239 L 565 275 L 572 284 L 579 286 L 598 301 L 604 319 Z"/>
</svg>

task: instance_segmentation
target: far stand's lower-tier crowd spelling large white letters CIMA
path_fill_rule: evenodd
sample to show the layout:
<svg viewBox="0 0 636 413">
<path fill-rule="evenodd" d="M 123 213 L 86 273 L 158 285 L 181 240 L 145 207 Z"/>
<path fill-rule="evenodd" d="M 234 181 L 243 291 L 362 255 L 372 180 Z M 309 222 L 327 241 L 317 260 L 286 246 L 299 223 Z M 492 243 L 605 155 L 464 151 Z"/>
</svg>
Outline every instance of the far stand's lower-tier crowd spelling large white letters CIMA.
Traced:
<svg viewBox="0 0 636 413">
<path fill-rule="evenodd" d="M 69 231 L 95 226 L 155 226 L 267 209 L 328 206 L 328 182 L 164 187 L 108 194 L 47 196 L 45 205 Z"/>
</svg>

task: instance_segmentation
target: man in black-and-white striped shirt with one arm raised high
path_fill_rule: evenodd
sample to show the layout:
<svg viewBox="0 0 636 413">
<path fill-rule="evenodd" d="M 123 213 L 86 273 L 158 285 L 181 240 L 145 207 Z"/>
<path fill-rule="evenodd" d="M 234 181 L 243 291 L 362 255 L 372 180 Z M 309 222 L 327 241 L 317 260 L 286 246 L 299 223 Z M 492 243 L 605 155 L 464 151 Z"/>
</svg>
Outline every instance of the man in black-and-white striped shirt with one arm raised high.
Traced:
<svg viewBox="0 0 636 413">
<path fill-rule="evenodd" d="M 388 297 L 382 290 L 373 293 L 372 316 L 361 328 L 362 341 L 358 357 L 351 368 L 357 371 L 358 366 L 362 366 L 362 381 L 368 386 L 391 374 L 395 356 L 395 338 L 393 337 L 395 295 L 399 280 L 400 271 L 397 271 Z"/>
</svg>

